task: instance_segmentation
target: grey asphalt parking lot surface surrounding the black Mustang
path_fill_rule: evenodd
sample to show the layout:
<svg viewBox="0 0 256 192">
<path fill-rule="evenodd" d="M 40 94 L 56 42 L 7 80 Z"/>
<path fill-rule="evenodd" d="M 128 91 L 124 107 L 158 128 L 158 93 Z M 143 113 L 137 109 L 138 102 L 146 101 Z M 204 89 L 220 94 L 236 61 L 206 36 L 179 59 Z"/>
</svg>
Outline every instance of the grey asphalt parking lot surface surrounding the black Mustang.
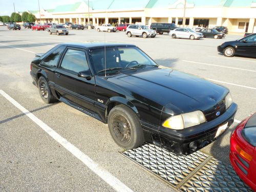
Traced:
<svg viewBox="0 0 256 192">
<path fill-rule="evenodd" d="M 45 53 L 61 42 L 135 44 L 161 66 L 227 87 L 238 104 L 236 122 L 201 151 L 229 163 L 234 127 L 256 112 L 256 59 L 227 58 L 218 54 L 217 46 L 241 37 L 189 40 L 163 34 L 144 39 L 96 30 L 57 36 L 0 27 L 0 191 L 176 191 L 117 153 L 123 150 L 106 124 L 64 103 L 41 100 L 29 74 L 30 62 L 35 53 Z M 22 107 L 28 111 L 20 111 Z"/>
</svg>

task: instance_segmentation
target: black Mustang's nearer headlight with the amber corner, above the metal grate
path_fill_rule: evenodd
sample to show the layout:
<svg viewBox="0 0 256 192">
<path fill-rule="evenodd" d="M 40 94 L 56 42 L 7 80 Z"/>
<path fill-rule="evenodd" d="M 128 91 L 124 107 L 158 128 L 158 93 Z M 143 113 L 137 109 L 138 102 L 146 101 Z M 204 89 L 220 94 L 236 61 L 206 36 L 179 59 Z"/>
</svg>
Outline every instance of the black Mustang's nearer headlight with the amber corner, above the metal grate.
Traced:
<svg viewBox="0 0 256 192">
<path fill-rule="evenodd" d="M 170 117 L 163 122 L 162 126 L 173 130 L 183 130 L 203 122 L 206 122 L 203 112 L 194 111 Z"/>
</svg>

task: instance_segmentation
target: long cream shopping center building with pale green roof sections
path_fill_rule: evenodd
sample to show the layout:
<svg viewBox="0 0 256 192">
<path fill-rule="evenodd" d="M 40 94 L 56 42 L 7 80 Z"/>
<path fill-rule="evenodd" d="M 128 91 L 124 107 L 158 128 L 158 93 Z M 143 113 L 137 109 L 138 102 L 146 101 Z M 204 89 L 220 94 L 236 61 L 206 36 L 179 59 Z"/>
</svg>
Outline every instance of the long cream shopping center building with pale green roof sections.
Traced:
<svg viewBox="0 0 256 192">
<path fill-rule="evenodd" d="M 29 12 L 41 23 L 182 26 L 185 18 L 184 24 L 190 28 L 226 26 L 229 32 L 256 32 L 256 0 L 90 0 Z"/>
</svg>

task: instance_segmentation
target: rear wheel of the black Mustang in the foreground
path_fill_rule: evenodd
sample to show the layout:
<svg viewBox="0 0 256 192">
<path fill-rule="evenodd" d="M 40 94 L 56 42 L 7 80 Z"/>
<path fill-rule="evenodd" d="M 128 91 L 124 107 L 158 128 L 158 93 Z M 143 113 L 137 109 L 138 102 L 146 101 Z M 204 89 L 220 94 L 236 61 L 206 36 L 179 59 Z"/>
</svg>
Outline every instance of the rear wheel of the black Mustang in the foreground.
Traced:
<svg viewBox="0 0 256 192">
<path fill-rule="evenodd" d="M 45 77 L 39 77 L 37 87 L 39 90 L 39 94 L 45 103 L 53 103 L 57 101 L 57 99 L 52 95 L 52 92 Z"/>
</svg>

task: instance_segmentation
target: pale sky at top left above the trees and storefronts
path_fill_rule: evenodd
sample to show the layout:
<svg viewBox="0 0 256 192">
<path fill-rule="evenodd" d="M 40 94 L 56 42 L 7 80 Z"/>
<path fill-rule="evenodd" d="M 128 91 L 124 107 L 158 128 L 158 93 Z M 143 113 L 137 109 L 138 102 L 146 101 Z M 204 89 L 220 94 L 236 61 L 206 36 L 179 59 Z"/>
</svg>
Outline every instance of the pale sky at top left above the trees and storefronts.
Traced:
<svg viewBox="0 0 256 192">
<path fill-rule="evenodd" d="M 73 4 L 82 0 L 39 0 L 40 9 L 54 9 L 58 5 Z M 38 10 L 38 0 L 0 0 L 0 16 L 16 11 Z"/>
</svg>

